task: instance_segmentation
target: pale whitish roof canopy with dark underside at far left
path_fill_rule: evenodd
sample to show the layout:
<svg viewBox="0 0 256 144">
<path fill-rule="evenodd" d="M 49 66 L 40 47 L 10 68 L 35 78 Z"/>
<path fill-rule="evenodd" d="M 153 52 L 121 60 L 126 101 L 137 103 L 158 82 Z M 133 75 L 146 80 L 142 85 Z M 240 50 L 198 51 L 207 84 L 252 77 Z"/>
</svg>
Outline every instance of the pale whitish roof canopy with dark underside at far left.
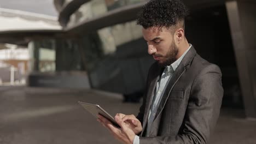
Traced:
<svg viewBox="0 0 256 144">
<path fill-rule="evenodd" d="M 54 16 L 0 8 L 0 21 L 0 43 L 26 45 L 32 38 L 62 33 Z"/>
</svg>

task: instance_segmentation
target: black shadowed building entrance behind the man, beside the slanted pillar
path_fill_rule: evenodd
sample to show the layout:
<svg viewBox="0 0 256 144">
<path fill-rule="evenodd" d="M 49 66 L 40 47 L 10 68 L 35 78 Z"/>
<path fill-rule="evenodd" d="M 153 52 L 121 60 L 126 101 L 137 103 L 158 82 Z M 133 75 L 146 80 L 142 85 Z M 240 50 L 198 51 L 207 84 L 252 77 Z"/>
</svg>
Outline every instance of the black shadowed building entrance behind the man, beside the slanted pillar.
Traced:
<svg viewBox="0 0 256 144">
<path fill-rule="evenodd" d="M 225 5 L 190 12 L 186 23 L 189 43 L 197 53 L 222 70 L 223 106 L 242 108 L 243 101 Z"/>
</svg>

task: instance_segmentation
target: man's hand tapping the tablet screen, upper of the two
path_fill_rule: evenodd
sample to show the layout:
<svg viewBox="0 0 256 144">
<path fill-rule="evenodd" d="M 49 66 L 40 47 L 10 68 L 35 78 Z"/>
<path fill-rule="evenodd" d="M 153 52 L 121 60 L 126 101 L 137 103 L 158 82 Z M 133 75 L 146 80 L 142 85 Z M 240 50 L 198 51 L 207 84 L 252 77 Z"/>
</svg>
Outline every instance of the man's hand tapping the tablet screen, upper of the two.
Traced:
<svg viewBox="0 0 256 144">
<path fill-rule="evenodd" d="M 126 124 L 127 127 L 132 129 L 132 131 L 138 135 L 142 131 L 141 122 L 134 115 L 124 115 L 123 113 L 117 113 L 116 116 L 119 116 L 122 121 Z"/>
</svg>

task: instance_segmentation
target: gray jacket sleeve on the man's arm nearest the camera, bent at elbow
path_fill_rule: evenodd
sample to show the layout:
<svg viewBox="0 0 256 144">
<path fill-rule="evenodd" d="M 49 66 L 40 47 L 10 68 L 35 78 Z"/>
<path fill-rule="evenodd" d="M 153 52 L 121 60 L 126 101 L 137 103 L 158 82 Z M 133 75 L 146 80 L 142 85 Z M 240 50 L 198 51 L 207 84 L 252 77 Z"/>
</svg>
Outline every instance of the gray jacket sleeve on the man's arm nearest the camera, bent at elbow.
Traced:
<svg viewBox="0 0 256 144">
<path fill-rule="evenodd" d="M 208 143 L 219 117 L 223 97 L 222 74 L 210 64 L 195 77 L 183 127 L 176 136 L 140 137 L 140 143 Z"/>
</svg>

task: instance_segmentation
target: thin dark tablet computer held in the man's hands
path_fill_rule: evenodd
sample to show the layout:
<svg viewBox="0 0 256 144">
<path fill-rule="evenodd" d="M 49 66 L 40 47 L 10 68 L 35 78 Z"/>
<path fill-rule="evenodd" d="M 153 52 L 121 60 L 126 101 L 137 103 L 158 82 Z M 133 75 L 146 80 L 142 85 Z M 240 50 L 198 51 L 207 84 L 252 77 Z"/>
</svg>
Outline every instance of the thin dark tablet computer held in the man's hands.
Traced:
<svg viewBox="0 0 256 144">
<path fill-rule="evenodd" d="M 80 105 L 82 105 L 85 110 L 90 112 L 96 118 L 98 118 L 97 115 L 101 115 L 101 116 L 107 118 L 108 121 L 110 121 L 113 125 L 115 125 L 115 127 L 120 128 L 120 126 L 117 124 L 117 122 L 115 122 L 115 119 L 111 115 L 109 115 L 109 113 L 107 111 L 105 111 L 100 105 L 85 103 L 82 101 L 78 101 L 78 103 Z"/>
</svg>

